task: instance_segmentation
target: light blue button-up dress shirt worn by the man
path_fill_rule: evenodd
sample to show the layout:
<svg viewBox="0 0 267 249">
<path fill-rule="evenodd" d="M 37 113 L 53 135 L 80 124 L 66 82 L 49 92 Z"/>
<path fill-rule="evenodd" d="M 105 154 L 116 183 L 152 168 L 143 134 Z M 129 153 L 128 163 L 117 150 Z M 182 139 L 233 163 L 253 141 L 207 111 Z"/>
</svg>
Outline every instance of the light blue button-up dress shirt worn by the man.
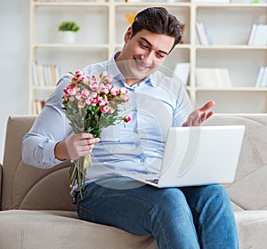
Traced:
<svg viewBox="0 0 267 249">
<path fill-rule="evenodd" d="M 125 173 L 158 173 L 168 128 L 181 126 L 192 111 L 187 92 L 180 82 L 159 71 L 130 87 L 113 57 L 84 68 L 88 75 L 101 71 L 114 76 L 118 87 L 128 89 L 130 100 L 122 108 L 121 116 L 131 116 L 132 120 L 103 129 L 101 141 L 92 152 L 93 167 L 87 169 L 87 181 Z M 51 168 L 61 163 L 54 157 L 54 147 L 72 132 L 62 109 L 63 89 L 69 80 L 70 76 L 61 77 L 23 138 L 22 157 L 28 165 Z"/>
</svg>

